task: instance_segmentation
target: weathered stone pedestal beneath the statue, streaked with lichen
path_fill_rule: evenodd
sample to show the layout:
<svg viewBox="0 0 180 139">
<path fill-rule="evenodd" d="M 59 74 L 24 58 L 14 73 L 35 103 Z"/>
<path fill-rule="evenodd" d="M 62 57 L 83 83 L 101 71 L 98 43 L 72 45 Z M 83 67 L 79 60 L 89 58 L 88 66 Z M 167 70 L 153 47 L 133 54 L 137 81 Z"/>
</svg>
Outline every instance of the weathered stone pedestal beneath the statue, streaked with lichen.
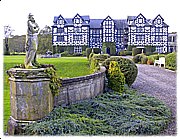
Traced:
<svg viewBox="0 0 180 139">
<path fill-rule="evenodd" d="M 53 109 L 53 95 L 45 69 L 12 68 L 10 81 L 11 116 L 9 135 L 23 132 L 22 127 L 45 117 Z"/>
</svg>

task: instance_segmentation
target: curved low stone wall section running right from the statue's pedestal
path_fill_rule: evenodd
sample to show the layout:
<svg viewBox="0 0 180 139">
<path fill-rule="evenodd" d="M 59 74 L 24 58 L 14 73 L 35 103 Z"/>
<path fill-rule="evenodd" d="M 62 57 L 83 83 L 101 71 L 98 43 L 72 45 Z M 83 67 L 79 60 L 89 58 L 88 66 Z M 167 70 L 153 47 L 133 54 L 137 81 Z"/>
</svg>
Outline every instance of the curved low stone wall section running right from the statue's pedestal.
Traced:
<svg viewBox="0 0 180 139">
<path fill-rule="evenodd" d="M 62 87 L 54 97 L 54 106 L 73 104 L 81 100 L 93 98 L 104 92 L 105 67 L 98 73 L 62 80 Z"/>
</svg>

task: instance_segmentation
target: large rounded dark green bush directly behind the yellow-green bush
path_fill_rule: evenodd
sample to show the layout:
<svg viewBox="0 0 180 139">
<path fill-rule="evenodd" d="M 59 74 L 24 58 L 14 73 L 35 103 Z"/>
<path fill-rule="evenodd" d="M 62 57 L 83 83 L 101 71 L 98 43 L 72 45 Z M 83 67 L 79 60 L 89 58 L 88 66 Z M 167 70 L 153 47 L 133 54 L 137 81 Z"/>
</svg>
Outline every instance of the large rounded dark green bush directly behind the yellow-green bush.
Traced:
<svg viewBox="0 0 180 139">
<path fill-rule="evenodd" d="M 119 66 L 120 66 L 120 70 L 121 72 L 124 74 L 125 77 L 125 82 L 128 86 L 131 86 L 136 77 L 137 77 L 137 73 L 138 73 L 138 69 L 137 66 L 135 65 L 135 63 L 127 58 L 122 58 L 122 57 L 117 57 L 117 56 L 111 56 L 110 58 L 106 59 L 102 65 L 106 67 L 106 69 L 109 69 L 109 65 L 111 61 L 117 61 Z"/>
</svg>

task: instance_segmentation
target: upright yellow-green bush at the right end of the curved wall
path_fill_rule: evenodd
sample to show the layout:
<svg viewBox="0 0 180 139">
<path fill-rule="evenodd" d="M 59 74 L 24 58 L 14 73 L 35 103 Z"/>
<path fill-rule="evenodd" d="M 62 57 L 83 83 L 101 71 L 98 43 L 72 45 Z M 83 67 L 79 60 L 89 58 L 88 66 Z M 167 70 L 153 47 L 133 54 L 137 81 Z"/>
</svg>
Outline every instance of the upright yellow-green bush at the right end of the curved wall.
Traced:
<svg viewBox="0 0 180 139">
<path fill-rule="evenodd" d="M 118 62 L 111 61 L 108 69 L 108 87 L 119 93 L 124 92 L 125 77 Z"/>
</svg>

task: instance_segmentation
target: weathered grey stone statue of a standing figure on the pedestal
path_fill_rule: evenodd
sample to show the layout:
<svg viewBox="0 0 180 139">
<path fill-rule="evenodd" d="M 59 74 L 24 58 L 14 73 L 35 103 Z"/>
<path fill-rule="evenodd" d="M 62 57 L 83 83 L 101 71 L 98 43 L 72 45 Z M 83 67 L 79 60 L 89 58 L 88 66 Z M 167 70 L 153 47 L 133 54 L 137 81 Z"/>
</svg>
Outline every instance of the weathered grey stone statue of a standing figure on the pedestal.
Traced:
<svg viewBox="0 0 180 139">
<path fill-rule="evenodd" d="M 25 68 L 35 68 L 37 67 L 36 61 L 36 51 L 38 47 L 38 33 L 39 33 L 39 26 L 35 22 L 33 15 L 30 13 L 28 15 L 27 21 L 27 34 L 26 34 L 26 58 L 25 58 Z"/>
</svg>

